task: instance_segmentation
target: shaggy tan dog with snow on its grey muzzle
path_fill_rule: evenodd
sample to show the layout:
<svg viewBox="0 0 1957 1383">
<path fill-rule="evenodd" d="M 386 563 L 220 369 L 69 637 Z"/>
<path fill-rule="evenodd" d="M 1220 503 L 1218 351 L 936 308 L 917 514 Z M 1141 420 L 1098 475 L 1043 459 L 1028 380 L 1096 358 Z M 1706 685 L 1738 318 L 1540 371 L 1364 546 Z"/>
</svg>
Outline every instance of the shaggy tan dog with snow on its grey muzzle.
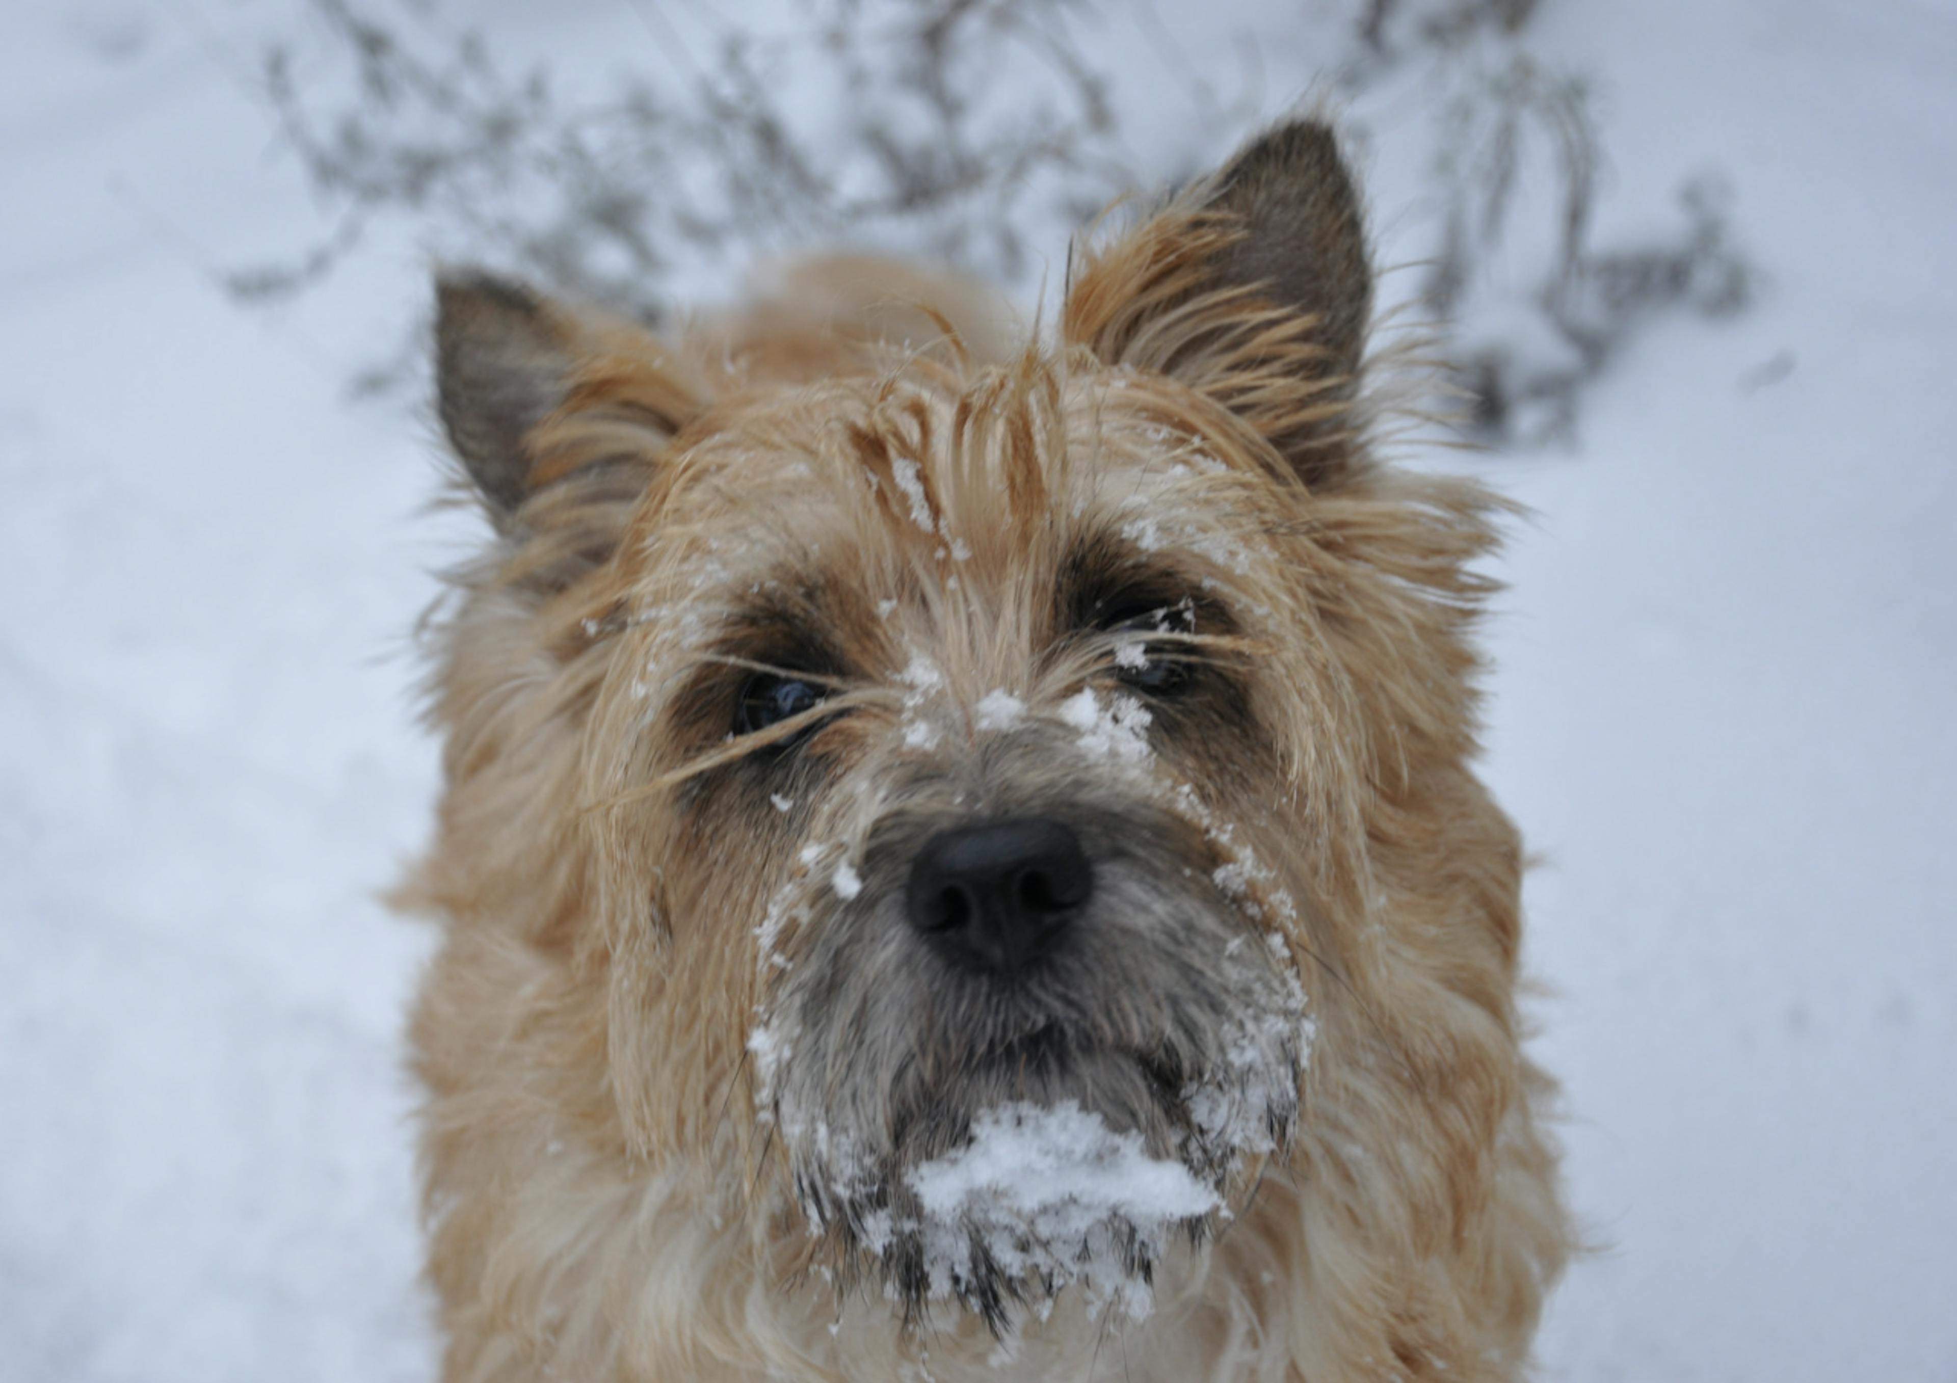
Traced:
<svg viewBox="0 0 1957 1383">
<path fill-rule="evenodd" d="M 1526 1371 L 1501 505 L 1376 454 L 1325 123 L 1057 333 L 871 258 L 673 336 L 436 295 L 495 534 L 403 890 L 444 1379 Z"/>
</svg>

